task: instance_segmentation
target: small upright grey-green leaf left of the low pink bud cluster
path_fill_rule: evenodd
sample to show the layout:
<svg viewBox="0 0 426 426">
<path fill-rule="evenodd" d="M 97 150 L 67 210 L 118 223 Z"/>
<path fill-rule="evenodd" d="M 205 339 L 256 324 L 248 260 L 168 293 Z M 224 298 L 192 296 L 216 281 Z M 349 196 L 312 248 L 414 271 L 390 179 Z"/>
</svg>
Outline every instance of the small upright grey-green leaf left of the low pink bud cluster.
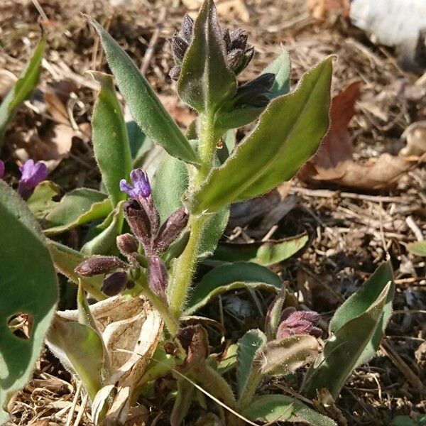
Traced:
<svg viewBox="0 0 426 426">
<path fill-rule="evenodd" d="M 259 329 L 249 330 L 238 341 L 238 350 L 236 352 L 236 387 L 239 401 L 246 395 L 251 400 L 251 396 L 256 391 L 258 381 L 258 371 L 260 366 L 256 363 L 258 354 L 261 353 L 267 339 L 265 334 Z M 258 378 L 259 380 L 254 380 Z M 255 383 L 253 383 L 255 382 Z"/>
</svg>

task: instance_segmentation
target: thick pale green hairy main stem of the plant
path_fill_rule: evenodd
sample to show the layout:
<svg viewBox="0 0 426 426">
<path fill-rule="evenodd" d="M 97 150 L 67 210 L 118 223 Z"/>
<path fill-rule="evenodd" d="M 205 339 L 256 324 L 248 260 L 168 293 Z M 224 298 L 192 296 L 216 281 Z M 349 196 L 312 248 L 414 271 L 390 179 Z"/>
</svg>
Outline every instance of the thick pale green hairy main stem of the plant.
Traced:
<svg viewBox="0 0 426 426">
<path fill-rule="evenodd" d="M 195 191 L 200 187 L 204 179 L 212 170 L 214 153 L 217 148 L 217 136 L 214 129 L 214 115 L 204 114 L 200 116 L 200 143 L 198 155 L 200 156 L 200 168 L 195 170 L 190 183 L 190 191 Z M 190 229 L 190 239 L 182 255 L 176 259 L 173 267 L 172 277 L 168 285 L 168 300 L 170 309 L 175 318 L 180 319 L 187 300 L 187 293 L 192 282 L 192 275 L 197 266 L 197 252 L 200 246 L 202 231 L 207 216 L 190 216 L 188 227 Z"/>
</svg>

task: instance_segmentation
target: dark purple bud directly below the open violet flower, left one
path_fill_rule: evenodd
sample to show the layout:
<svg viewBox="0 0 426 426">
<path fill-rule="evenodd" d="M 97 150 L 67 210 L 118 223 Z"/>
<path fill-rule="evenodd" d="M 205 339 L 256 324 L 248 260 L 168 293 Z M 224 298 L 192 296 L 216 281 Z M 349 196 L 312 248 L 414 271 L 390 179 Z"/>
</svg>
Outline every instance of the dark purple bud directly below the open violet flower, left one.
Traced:
<svg viewBox="0 0 426 426">
<path fill-rule="evenodd" d="M 143 245 L 145 253 L 150 256 L 152 251 L 151 222 L 146 209 L 142 207 L 140 202 L 129 200 L 124 204 L 124 216 L 133 235 Z"/>
</svg>

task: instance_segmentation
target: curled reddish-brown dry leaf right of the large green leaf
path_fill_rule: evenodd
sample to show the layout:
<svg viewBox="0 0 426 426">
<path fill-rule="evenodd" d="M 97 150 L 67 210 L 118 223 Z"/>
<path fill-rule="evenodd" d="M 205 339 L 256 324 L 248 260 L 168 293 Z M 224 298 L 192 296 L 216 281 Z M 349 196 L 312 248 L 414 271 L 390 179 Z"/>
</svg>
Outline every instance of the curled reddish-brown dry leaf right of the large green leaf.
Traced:
<svg viewBox="0 0 426 426">
<path fill-rule="evenodd" d="M 344 187 L 381 190 L 393 187 L 411 163 L 388 153 L 371 158 L 366 163 L 352 159 L 352 144 L 348 124 L 355 114 L 359 97 L 359 82 L 353 82 L 332 99 L 330 127 L 319 151 L 300 171 L 303 180 L 332 182 Z"/>
</svg>

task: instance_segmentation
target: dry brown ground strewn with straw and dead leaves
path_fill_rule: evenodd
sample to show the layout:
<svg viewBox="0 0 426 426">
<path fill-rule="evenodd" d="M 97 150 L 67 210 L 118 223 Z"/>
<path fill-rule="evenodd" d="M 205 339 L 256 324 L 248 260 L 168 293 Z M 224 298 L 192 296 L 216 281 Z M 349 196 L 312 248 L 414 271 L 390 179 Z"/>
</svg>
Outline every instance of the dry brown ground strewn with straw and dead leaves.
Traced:
<svg viewBox="0 0 426 426">
<path fill-rule="evenodd" d="M 196 2 L 195 2 L 196 3 Z M 90 115 L 96 86 L 87 70 L 108 71 L 99 40 L 80 12 L 89 13 L 119 41 L 145 72 L 175 119 L 187 125 L 192 113 L 175 102 L 168 77 L 172 58 L 168 39 L 187 8 L 179 0 L 141 0 L 114 9 L 107 1 L 2 0 L 0 3 L 0 96 L 11 74 L 18 75 L 40 35 L 40 13 L 48 31 L 40 87 L 23 105 L 6 133 L 2 158 L 7 170 L 18 170 L 18 160 L 48 160 L 50 178 L 67 191 L 77 186 L 97 187 L 99 175 L 92 156 Z M 303 72 L 327 55 L 337 55 L 333 94 L 350 82 L 361 82 L 356 114 L 349 124 L 354 161 L 364 163 L 382 153 L 398 154 L 405 129 L 426 119 L 426 82 L 405 72 L 391 48 L 370 43 L 364 33 L 342 17 L 316 21 L 303 0 L 246 0 L 246 9 L 224 13 L 226 25 L 239 25 L 256 48 L 253 65 L 242 76 L 255 76 L 285 45 L 293 63 L 294 87 Z M 249 14 L 247 14 L 249 13 Z M 9 80 L 8 80 L 9 78 Z M 425 80 L 425 79 L 423 79 Z M 420 83 L 422 81 L 420 80 Z M 49 95 L 53 93 L 53 95 Z M 60 99 L 60 102 L 58 102 Z M 239 134 L 242 136 L 242 133 Z M 266 141 L 267 143 L 267 141 Z M 234 241 L 278 239 L 308 231 L 310 246 L 298 258 L 274 266 L 300 301 L 317 310 L 325 321 L 354 293 L 376 266 L 387 258 L 395 269 L 394 315 L 378 356 L 358 368 L 337 405 L 320 409 L 348 425 L 390 425 L 397 415 L 426 413 L 426 265 L 408 253 L 410 242 L 426 235 L 426 169 L 413 163 L 393 187 L 381 190 L 342 186 L 295 178 L 278 201 L 256 202 L 258 214 L 234 215 L 226 237 Z M 278 197 L 279 198 L 279 197 Z M 283 205 L 275 222 L 267 222 L 271 205 Z M 269 219 L 271 220 L 271 219 Z M 74 233 L 65 244 L 77 244 Z M 244 296 L 242 296 L 244 297 Z M 251 324 L 241 321 L 241 327 Z M 233 332 L 230 327 L 229 334 Z M 287 384 L 268 383 L 288 392 Z M 152 423 L 167 410 L 165 401 L 153 405 Z M 13 425 L 88 425 L 87 398 L 50 354 L 44 354 L 33 381 L 18 394 L 12 408 Z M 344 424 L 344 420 L 340 420 Z"/>
</svg>

